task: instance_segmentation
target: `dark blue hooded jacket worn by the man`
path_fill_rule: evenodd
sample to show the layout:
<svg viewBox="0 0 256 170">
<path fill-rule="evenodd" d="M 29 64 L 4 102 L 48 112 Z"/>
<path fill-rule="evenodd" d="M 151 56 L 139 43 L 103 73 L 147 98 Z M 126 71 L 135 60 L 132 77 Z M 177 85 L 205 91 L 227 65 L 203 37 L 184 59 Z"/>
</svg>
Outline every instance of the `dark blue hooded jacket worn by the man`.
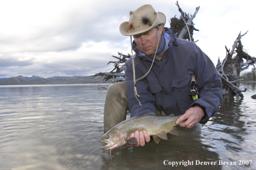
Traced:
<svg viewBox="0 0 256 170">
<path fill-rule="evenodd" d="M 194 104 L 205 107 L 207 116 L 200 121 L 206 123 L 222 103 L 222 81 L 209 57 L 194 43 L 177 38 L 165 27 L 167 44 L 162 60 L 155 59 L 152 70 L 136 83 L 138 99 L 134 96 L 132 58 L 125 63 L 127 97 L 131 117 L 155 112 L 166 115 L 181 115 Z M 136 80 L 150 69 L 153 56 L 144 55 L 133 42 Z M 193 102 L 190 79 L 195 74 L 200 98 Z"/>
</svg>

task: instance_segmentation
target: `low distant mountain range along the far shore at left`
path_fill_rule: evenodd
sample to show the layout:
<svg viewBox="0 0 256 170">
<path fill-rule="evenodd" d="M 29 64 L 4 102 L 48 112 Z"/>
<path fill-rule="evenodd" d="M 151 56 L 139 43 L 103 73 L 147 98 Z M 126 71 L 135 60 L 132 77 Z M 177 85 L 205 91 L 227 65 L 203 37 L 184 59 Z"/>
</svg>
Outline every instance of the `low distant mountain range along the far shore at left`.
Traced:
<svg viewBox="0 0 256 170">
<path fill-rule="evenodd" d="M 33 77 L 33 76 L 32 76 Z M 36 77 L 36 76 L 35 76 Z M 74 76 L 74 77 L 52 77 L 35 79 L 27 79 L 23 76 L 12 77 L 5 80 L 0 80 L 0 85 L 49 85 L 49 84 L 86 84 L 99 83 L 103 77 L 101 76 Z"/>
</svg>

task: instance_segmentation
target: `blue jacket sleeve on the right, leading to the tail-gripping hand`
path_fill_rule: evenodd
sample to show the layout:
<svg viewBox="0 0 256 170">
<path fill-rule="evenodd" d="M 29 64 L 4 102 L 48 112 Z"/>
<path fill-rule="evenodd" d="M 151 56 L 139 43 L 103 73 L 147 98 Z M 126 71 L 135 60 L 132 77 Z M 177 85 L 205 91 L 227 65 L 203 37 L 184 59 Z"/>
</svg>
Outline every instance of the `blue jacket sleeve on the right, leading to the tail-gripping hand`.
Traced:
<svg viewBox="0 0 256 170">
<path fill-rule="evenodd" d="M 206 117 L 200 121 L 206 123 L 215 114 L 222 103 L 222 81 L 214 64 L 209 57 L 197 46 L 195 76 L 200 98 L 191 104 L 200 104 L 205 107 Z"/>
</svg>

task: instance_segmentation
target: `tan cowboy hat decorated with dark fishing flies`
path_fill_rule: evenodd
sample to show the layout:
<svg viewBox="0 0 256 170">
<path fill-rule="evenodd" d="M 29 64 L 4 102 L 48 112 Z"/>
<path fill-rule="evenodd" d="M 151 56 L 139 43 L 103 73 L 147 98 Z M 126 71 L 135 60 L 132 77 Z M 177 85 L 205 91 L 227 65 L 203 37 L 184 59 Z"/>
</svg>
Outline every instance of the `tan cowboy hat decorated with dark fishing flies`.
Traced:
<svg viewBox="0 0 256 170">
<path fill-rule="evenodd" d="M 165 25 L 165 15 L 156 12 L 152 5 L 143 5 L 130 12 L 129 21 L 123 22 L 119 30 L 125 36 L 144 33 L 159 24 Z"/>
</svg>

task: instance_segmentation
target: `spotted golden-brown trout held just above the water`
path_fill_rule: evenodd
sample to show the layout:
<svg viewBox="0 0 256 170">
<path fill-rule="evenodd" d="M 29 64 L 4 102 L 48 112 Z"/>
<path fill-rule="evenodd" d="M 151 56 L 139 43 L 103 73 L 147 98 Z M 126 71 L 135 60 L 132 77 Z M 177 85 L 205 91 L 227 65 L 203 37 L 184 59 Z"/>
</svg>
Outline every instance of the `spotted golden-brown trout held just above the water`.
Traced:
<svg viewBox="0 0 256 170">
<path fill-rule="evenodd" d="M 136 138 L 130 138 L 131 133 L 135 131 L 146 130 L 147 133 L 153 137 L 153 140 L 158 144 L 160 139 L 167 140 L 167 133 L 178 135 L 177 130 L 173 127 L 176 126 L 175 122 L 181 115 L 155 115 L 148 113 L 145 115 L 129 118 L 121 123 L 112 127 L 103 137 L 100 142 L 105 143 L 106 146 L 100 148 L 104 150 L 111 150 L 119 148 L 126 143 L 137 143 Z M 182 121 L 181 123 L 183 123 Z M 180 124 L 181 124 L 180 123 Z"/>
</svg>

